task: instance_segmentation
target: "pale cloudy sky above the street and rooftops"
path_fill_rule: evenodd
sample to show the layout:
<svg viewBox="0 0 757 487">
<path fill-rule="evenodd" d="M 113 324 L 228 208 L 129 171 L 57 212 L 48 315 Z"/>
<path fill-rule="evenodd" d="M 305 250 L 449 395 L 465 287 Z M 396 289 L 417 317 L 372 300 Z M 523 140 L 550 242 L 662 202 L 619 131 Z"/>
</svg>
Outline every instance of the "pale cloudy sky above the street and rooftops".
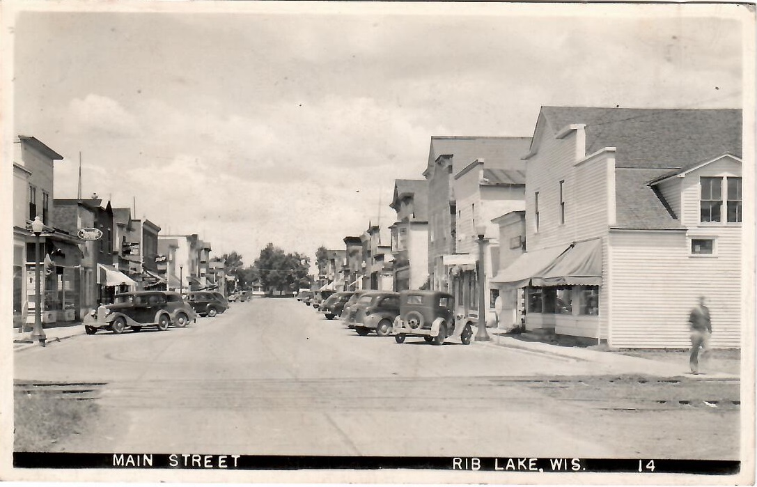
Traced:
<svg viewBox="0 0 757 487">
<path fill-rule="evenodd" d="M 55 198 L 81 152 L 84 195 L 248 263 L 391 223 L 431 136 L 531 136 L 541 105 L 742 105 L 731 5 L 197 3 L 21 11 L 14 133 L 64 155 Z"/>
</svg>

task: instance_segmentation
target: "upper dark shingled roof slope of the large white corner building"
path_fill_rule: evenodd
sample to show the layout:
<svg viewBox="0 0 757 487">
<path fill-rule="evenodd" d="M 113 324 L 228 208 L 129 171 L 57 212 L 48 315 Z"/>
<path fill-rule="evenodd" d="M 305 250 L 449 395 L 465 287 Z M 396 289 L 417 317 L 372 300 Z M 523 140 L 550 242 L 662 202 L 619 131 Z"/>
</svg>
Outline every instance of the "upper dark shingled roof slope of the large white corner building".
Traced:
<svg viewBox="0 0 757 487">
<path fill-rule="evenodd" d="M 729 152 L 741 157 L 741 110 L 542 107 L 553 134 L 586 125 L 586 154 L 617 148 L 615 167 L 681 168 Z"/>
</svg>

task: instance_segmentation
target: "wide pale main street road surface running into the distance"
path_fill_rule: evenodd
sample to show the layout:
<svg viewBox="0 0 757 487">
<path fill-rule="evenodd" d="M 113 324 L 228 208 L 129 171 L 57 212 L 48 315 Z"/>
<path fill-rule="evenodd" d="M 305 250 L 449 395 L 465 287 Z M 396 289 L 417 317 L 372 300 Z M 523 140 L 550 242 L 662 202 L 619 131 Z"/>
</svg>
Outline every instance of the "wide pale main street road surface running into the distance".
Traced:
<svg viewBox="0 0 757 487">
<path fill-rule="evenodd" d="M 294 299 L 235 303 L 185 329 L 79 336 L 17 353 L 14 367 L 19 382 L 98 384 L 100 414 L 61 451 L 739 457 L 737 383 L 618 380 L 475 342 L 397 345 Z"/>
</svg>

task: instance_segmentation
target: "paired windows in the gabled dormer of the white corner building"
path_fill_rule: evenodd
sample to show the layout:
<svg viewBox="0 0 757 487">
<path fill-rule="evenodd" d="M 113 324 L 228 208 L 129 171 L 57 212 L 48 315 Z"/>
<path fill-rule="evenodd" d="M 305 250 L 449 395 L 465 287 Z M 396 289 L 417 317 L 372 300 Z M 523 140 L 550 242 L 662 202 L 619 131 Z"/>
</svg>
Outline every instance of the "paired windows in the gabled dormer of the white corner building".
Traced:
<svg viewBox="0 0 757 487">
<path fill-rule="evenodd" d="M 741 223 L 741 178 L 700 177 L 699 221 Z M 723 190 L 725 186 L 725 191 Z M 725 204 L 724 204 L 725 203 Z M 725 215 L 723 211 L 725 209 Z"/>
</svg>

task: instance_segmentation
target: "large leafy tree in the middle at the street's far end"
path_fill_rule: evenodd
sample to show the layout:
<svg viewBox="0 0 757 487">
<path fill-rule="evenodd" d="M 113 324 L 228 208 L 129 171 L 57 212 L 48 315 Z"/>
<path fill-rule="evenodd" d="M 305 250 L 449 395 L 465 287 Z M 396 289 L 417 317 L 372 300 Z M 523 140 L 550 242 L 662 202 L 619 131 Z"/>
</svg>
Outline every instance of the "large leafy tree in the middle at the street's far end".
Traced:
<svg viewBox="0 0 757 487">
<path fill-rule="evenodd" d="M 286 254 L 273 243 L 260 251 L 253 269 L 260 276 L 260 283 L 266 292 L 292 292 L 301 287 L 310 287 L 311 278 L 307 275 L 310 260 L 298 252 Z"/>
</svg>

